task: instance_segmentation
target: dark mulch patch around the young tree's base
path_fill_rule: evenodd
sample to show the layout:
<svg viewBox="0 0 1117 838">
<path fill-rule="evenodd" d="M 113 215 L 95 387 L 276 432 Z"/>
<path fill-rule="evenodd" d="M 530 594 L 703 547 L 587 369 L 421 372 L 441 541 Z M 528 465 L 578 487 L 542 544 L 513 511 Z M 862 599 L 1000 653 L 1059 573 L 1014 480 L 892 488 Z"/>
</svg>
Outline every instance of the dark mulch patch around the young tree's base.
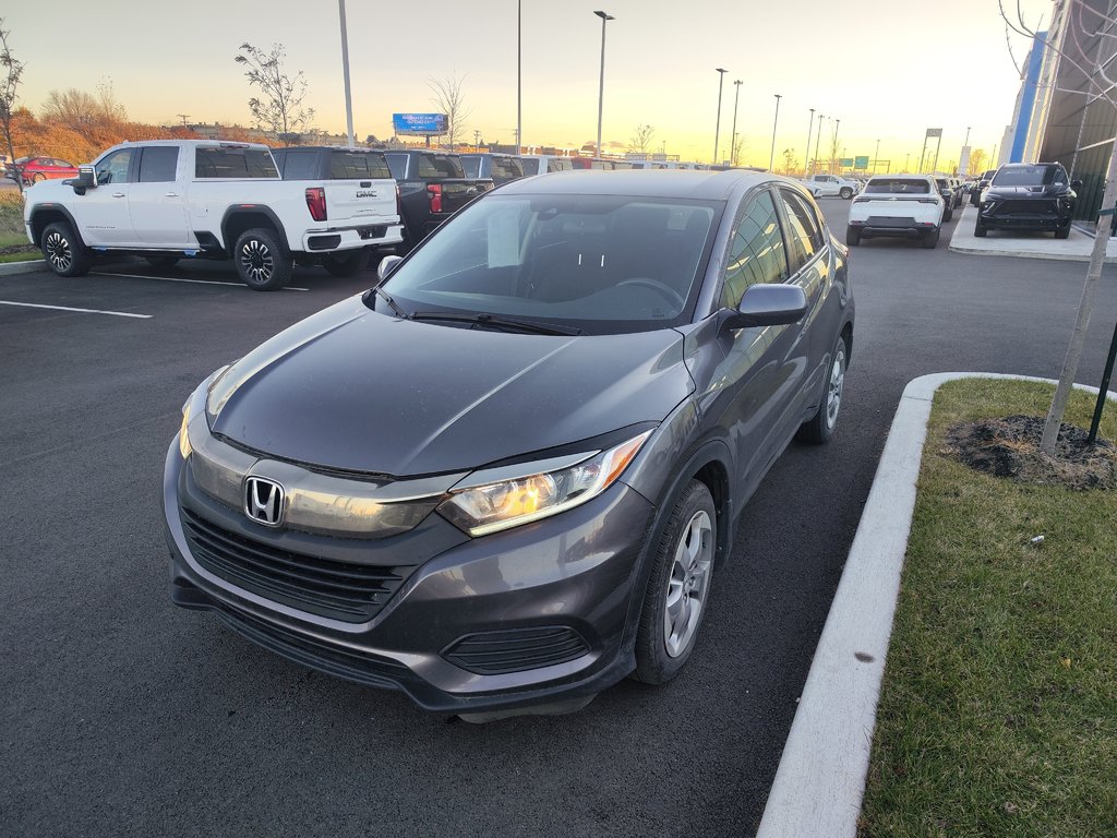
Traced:
<svg viewBox="0 0 1117 838">
<path fill-rule="evenodd" d="M 1056 454 L 1040 450 L 1044 419 L 1008 416 L 960 422 L 946 432 L 943 454 L 971 468 L 1021 483 L 1058 484 L 1072 489 L 1117 488 L 1117 448 L 1099 439 L 1087 442 L 1085 430 L 1063 423 Z"/>
</svg>

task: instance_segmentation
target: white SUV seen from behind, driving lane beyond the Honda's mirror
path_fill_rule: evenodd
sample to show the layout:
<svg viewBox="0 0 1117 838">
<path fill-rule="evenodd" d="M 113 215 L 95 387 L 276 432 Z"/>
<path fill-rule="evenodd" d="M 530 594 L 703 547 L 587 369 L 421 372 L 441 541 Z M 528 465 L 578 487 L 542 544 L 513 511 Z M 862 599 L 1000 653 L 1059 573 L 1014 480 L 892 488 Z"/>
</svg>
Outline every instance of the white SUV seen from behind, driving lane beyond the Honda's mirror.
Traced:
<svg viewBox="0 0 1117 838">
<path fill-rule="evenodd" d="M 849 208 L 846 244 L 857 246 L 872 236 L 917 238 L 924 247 L 938 244 L 946 201 L 935 179 L 926 174 L 878 174 Z"/>
</svg>

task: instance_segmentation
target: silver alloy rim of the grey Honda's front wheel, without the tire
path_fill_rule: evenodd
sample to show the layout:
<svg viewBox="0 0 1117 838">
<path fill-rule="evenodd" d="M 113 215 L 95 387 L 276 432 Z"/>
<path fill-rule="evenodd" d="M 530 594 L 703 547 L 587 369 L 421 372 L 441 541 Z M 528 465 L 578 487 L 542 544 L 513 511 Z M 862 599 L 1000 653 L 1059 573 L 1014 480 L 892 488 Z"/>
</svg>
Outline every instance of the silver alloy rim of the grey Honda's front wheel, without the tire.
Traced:
<svg viewBox="0 0 1117 838">
<path fill-rule="evenodd" d="M 663 641 L 667 654 L 672 658 L 686 651 L 698 630 L 709 591 L 713 558 L 714 525 L 709 514 L 699 510 L 679 535 L 671 574 L 667 580 Z"/>
</svg>

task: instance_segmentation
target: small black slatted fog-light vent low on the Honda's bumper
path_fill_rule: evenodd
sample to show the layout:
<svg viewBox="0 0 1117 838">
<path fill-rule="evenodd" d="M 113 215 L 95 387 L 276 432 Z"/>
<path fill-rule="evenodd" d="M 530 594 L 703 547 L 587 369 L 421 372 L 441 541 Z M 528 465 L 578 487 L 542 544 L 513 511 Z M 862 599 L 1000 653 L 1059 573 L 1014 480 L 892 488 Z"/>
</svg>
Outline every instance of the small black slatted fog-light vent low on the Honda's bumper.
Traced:
<svg viewBox="0 0 1117 838">
<path fill-rule="evenodd" d="M 564 664 L 589 650 L 589 644 L 573 629 L 542 626 L 466 635 L 451 644 L 442 657 L 477 675 L 504 675 Z"/>
</svg>

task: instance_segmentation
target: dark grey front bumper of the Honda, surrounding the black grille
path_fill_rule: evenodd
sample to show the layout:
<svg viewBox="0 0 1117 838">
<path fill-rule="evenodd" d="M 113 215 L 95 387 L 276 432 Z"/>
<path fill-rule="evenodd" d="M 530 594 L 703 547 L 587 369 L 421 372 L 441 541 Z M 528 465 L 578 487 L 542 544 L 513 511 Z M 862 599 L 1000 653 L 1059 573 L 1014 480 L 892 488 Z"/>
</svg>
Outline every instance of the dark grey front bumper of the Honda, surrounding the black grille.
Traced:
<svg viewBox="0 0 1117 838">
<path fill-rule="evenodd" d="M 456 713 L 590 696 L 633 668 L 633 594 L 655 510 L 623 483 L 583 506 L 480 539 L 432 513 L 414 531 L 367 542 L 376 552 L 398 547 L 399 562 L 433 555 L 402 574 L 372 619 L 353 623 L 270 601 L 207 570 L 184 515 L 262 545 L 276 532 L 202 493 L 184 465 L 174 441 L 163 483 L 172 601 L 212 610 L 284 657 Z M 299 539 L 361 553 L 350 539 Z M 556 644 L 566 653 L 538 665 L 554 659 Z"/>
</svg>

